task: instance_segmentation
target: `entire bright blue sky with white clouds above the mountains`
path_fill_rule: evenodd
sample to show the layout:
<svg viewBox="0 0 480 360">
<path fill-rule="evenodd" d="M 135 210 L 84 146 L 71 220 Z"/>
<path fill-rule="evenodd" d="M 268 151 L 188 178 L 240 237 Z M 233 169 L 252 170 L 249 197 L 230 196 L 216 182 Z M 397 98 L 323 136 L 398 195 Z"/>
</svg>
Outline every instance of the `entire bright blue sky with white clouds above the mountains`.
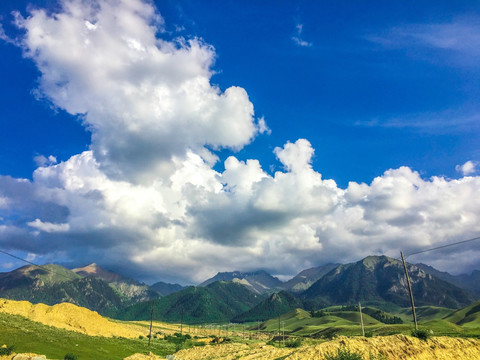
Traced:
<svg viewBox="0 0 480 360">
<path fill-rule="evenodd" d="M 195 284 L 478 237 L 479 12 L 3 1 L 0 249 Z M 469 272 L 480 241 L 408 260 Z"/>
</svg>

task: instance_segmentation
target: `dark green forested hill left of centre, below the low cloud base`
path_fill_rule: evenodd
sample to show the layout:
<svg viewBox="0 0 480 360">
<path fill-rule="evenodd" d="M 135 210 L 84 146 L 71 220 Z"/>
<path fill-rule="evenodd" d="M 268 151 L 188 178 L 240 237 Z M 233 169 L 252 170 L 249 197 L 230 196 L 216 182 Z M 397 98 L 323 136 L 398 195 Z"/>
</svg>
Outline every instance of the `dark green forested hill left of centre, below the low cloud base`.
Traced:
<svg viewBox="0 0 480 360">
<path fill-rule="evenodd" d="M 155 320 L 184 323 L 228 322 L 258 304 L 262 296 L 245 286 L 218 281 L 206 287 L 190 286 L 161 299 L 153 300 Z M 122 320 L 150 319 L 152 302 L 142 302 L 120 311 Z"/>
</svg>

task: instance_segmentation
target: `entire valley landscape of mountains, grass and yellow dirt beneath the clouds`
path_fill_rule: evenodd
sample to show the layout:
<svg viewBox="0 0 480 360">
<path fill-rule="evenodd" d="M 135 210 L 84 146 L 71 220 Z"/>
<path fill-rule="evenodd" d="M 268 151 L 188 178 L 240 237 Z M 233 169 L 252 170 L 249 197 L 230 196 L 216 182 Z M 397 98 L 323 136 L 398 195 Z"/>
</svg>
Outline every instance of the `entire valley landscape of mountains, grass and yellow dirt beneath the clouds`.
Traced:
<svg viewBox="0 0 480 360">
<path fill-rule="evenodd" d="M 478 339 L 480 300 L 437 278 L 435 269 L 426 269 L 428 273 L 408 265 L 419 329 L 429 342 Z M 331 344 L 338 347 L 335 339 L 344 339 L 364 354 L 365 349 L 379 350 L 382 341 L 401 349 L 418 340 L 411 337 L 413 320 L 402 269 L 398 260 L 385 256 L 308 269 L 285 283 L 260 271 L 219 273 L 196 287 L 157 284 L 166 295 L 96 264 L 73 270 L 26 266 L 2 273 L 0 342 L 49 359 L 68 351 L 82 359 L 121 359 L 150 351 L 179 359 L 233 359 L 240 354 L 300 359 L 302 353 L 313 356 L 324 354 Z M 63 345 L 54 345 L 60 339 Z M 421 348 L 423 343 L 417 345 Z M 218 349 L 209 350 L 212 347 Z"/>
</svg>

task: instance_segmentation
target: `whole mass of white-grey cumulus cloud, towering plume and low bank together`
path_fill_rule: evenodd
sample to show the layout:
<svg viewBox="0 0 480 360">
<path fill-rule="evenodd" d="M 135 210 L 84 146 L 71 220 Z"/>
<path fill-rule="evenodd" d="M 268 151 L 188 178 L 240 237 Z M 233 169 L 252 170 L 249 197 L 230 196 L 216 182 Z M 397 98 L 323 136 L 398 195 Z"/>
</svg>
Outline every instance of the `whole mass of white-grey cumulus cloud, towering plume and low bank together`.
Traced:
<svg viewBox="0 0 480 360">
<path fill-rule="evenodd" d="M 341 189 L 312 168 L 306 139 L 274 149 L 283 165 L 274 174 L 235 156 L 215 170 L 216 149 L 240 149 L 268 127 L 244 89 L 210 83 L 214 49 L 162 40 L 150 3 L 61 4 L 19 17 L 22 46 L 40 71 L 39 94 L 81 116 L 92 145 L 58 164 L 39 159 L 31 181 L 0 176 L 3 248 L 199 282 L 234 269 L 292 275 L 480 232 L 471 201 L 480 177 L 424 179 L 401 167 Z M 471 265 L 457 254 L 442 262 Z"/>
</svg>

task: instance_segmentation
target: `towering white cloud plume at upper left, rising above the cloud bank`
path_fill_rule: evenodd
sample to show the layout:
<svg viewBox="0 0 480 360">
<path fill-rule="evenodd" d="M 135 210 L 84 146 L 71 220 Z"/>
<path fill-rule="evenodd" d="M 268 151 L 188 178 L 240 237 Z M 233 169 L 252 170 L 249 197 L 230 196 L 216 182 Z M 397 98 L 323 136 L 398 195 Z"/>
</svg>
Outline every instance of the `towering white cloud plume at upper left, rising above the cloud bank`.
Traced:
<svg viewBox="0 0 480 360">
<path fill-rule="evenodd" d="M 169 176 L 172 156 L 204 146 L 241 149 L 258 133 L 246 91 L 210 84 L 213 47 L 156 38 L 163 19 L 139 0 L 63 0 L 62 13 L 33 10 L 22 46 L 41 72 L 38 93 L 92 131 L 110 176 Z"/>
</svg>

